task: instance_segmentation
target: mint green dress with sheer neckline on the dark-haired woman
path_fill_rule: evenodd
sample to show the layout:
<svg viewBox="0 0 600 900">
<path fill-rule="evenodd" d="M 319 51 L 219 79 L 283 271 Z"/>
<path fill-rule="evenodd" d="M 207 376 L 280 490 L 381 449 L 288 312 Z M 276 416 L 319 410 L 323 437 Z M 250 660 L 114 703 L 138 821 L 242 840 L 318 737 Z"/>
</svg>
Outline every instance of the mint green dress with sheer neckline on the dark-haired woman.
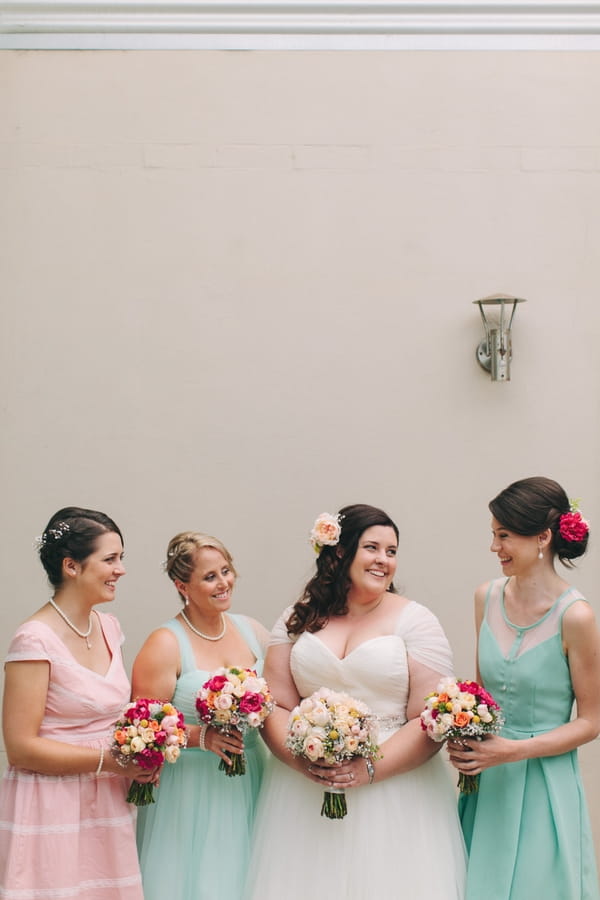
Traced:
<svg viewBox="0 0 600 900">
<path fill-rule="evenodd" d="M 504 710 L 504 737 L 524 739 L 571 718 L 573 686 L 562 619 L 584 598 L 569 588 L 525 628 L 506 615 L 508 579 L 491 582 L 479 635 L 483 684 Z M 466 900 L 599 900 L 577 751 L 486 769 L 461 795 L 470 851 Z"/>
</svg>

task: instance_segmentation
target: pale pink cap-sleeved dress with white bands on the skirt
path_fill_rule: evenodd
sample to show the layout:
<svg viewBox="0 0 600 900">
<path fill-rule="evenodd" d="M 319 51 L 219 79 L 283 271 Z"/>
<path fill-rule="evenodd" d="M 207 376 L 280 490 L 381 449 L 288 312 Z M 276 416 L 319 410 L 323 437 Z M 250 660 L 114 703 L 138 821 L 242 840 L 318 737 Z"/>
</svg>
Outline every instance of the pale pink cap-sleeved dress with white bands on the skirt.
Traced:
<svg viewBox="0 0 600 900">
<path fill-rule="evenodd" d="M 105 675 L 81 666 L 36 620 L 17 630 L 6 661 L 50 663 L 40 736 L 94 747 L 100 756 L 130 687 L 119 623 L 106 613 L 98 618 L 112 656 Z M 129 781 L 108 772 L 40 775 L 9 766 L 0 783 L 0 897 L 143 900 L 128 787 Z"/>
</svg>

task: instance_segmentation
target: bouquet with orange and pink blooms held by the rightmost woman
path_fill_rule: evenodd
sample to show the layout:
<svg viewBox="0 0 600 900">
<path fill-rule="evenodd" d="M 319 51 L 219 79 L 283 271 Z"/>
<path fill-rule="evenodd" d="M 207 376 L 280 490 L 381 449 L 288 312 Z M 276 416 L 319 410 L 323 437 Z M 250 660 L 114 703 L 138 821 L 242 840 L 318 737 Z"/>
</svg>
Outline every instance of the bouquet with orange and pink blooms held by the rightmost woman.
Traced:
<svg viewBox="0 0 600 900">
<path fill-rule="evenodd" d="M 497 734 L 504 724 L 502 710 L 476 681 L 442 678 L 425 703 L 421 728 L 434 741 L 466 737 L 481 741 L 486 734 Z M 463 794 L 474 794 L 479 790 L 479 776 L 461 772 L 458 787 Z"/>
</svg>

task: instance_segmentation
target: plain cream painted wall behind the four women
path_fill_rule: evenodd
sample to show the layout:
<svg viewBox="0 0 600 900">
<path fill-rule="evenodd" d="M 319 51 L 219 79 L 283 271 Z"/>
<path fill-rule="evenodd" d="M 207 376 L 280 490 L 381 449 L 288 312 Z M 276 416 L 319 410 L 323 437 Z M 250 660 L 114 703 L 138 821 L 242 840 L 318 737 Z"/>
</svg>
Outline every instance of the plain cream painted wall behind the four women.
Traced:
<svg viewBox="0 0 600 900">
<path fill-rule="evenodd" d="M 600 522 L 599 89 L 595 53 L 2 52 L 4 645 L 60 506 L 124 530 L 131 663 L 176 531 L 271 625 L 359 501 L 472 674 L 490 497 L 548 474 Z M 474 356 L 497 291 L 510 384 Z M 599 574 L 593 541 L 597 608 Z"/>
</svg>

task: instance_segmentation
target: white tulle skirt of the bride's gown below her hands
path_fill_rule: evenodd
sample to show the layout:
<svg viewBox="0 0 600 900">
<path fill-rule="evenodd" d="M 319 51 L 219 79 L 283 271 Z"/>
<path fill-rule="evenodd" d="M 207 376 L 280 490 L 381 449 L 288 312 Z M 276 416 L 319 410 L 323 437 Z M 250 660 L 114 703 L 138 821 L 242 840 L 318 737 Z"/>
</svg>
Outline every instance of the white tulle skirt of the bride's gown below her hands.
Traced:
<svg viewBox="0 0 600 900">
<path fill-rule="evenodd" d="M 323 789 L 271 758 L 244 900 L 463 900 L 453 781 L 437 754 L 411 772 L 348 790 L 345 818 L 328 819 L 320 815 Z"/>
</svg>

